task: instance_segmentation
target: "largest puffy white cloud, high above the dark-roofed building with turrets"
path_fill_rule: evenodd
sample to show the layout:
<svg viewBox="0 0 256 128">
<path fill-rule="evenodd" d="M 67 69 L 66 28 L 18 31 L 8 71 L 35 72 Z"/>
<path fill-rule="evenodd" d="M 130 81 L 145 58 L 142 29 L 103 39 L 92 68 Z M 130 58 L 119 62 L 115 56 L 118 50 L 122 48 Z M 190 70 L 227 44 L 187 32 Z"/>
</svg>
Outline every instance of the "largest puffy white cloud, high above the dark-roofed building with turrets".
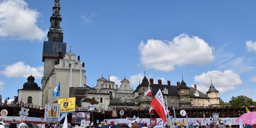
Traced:
<svg viewBox="0 0 256 128">
<path fill-rule="evenodd" d="M 210 63 L 213 49 L 203 39 L 185 33 L 172 41 L 149 39 L 139 45 L 142 65 L 160 71 L 172 71 L 175 65 Z"/>
</svg>

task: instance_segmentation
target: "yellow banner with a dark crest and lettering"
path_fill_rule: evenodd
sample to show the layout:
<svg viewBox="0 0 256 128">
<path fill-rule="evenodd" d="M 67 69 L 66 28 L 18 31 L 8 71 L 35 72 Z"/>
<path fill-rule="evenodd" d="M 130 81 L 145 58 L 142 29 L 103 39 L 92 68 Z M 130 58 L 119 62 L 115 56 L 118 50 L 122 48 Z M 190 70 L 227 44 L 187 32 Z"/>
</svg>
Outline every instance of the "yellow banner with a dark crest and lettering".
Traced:
<svg viewBox="0 0 256 128">
<path fill-rule="evenodd" d="M 58 104 L 60 104 L 60 113 L 74 112 L 76 110 L 76 97 L 59 98 Z"/>
</svg>

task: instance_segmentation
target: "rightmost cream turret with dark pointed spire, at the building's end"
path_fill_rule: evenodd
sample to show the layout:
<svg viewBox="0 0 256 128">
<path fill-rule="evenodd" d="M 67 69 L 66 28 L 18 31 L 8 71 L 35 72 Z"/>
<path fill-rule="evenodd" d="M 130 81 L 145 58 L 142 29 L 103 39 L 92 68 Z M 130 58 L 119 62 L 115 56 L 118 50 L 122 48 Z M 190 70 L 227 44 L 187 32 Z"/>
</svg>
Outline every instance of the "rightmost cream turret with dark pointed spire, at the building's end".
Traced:
<svg viewBox="0 0 256 128">
<path fill-rule="evenodd" d="M 219 91 L 217 91 L 215 87 L 212 85 L 212 78 L 210 79 L 211 79 L 210 89 L 206 92 L 206 94 L 210 98 L 210 104 L 212 106 L 220 106 Z"/>
</svg>

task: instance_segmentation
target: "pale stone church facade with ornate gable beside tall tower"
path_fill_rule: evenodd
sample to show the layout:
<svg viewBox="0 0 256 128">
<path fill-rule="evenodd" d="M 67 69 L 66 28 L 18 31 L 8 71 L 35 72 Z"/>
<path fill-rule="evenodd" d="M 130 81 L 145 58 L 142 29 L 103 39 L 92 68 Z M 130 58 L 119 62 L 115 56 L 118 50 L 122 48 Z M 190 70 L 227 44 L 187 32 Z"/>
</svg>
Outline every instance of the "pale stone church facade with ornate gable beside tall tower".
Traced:
<svg viewBox="0 0 256 128">
<path fill-rule="evenodd" d="M 72 68 L 72 79 L 70 81 L 70 69 Z M 81 85 L 86 85 L 85 70 L 80 60 L 76 60 L 76 55 L 71 51 L 66 53 L 63 59 L 59 59 L 59 63 L 54 66 L 50 73 L 46 84 L 43 88 L 43 105 L 56 102 L 58 98 L 66 98 L 69 96 L 69 87 L 80 87 L 80 69 L 82 74 Z M 55 98 L 52 92 L 60 81 L 60 96 Z M 71 83 L 71 84 L 70 84 Z M 71 86 L 70 86 L 71 85 Z"/>
</svg>

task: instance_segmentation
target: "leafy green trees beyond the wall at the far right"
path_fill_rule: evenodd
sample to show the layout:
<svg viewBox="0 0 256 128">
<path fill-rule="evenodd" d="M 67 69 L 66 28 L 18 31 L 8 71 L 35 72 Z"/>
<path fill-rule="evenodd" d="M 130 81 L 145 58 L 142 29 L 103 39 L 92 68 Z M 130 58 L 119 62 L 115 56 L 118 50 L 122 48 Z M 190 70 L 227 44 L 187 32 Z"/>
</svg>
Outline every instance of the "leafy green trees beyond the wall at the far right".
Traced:
<svg viewBox="0 0 256 128">
<path fill-rule="evenodd" d="M 252 100 L 252 98 L 249 98 L 247 96 L 232 96 L 231 100 L 229 101 L 232 107 L 241 107 L 241 106 L 251 106 L 255 105 L 255 102 Z"/>
</svg>

